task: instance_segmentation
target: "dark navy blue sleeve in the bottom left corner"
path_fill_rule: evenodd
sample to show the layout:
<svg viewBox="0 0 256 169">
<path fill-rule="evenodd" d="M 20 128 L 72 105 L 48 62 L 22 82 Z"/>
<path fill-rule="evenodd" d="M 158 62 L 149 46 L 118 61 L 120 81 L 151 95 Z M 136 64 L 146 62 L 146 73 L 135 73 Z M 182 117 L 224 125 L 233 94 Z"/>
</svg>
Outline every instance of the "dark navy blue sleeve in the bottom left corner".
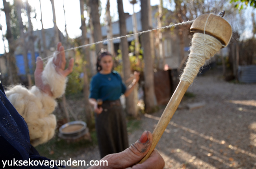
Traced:
<svg viewBox="0 0 256 169">
<path fill-rule="evenodd" d="M 30 160 L 48 160 L 40 156 L 35 148 L 30 144 L 28 126 L 22 116 L 17 112 L 15 107 L 7 99 L 2 84 L 0 83 L 0 168 L 4 167 L 3 162 L 6 160 L 28 161 Z M 19 162 L 16 163 L 20 165 Z M 7 169 L 43 169 L 50 168 L 44 164 L 41 166 L 7 166 Z M 13 164 L 14 165 L 14 164 Z M 62 166 L 59 166 L 62 167 Z M 58 169 L 54 166 L 54 169 Z"/>
</svg>

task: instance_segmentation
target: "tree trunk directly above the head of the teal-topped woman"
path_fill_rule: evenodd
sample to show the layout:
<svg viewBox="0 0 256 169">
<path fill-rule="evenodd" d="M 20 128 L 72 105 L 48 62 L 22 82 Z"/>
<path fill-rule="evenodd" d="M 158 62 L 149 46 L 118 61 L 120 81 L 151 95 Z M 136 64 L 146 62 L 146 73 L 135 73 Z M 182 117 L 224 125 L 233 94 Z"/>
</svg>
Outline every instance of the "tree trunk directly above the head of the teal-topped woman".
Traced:
<svg viewBox="0 0 256 169">
<path fill-rule="evenodd" d="M 94 40 L 95 42 L 102 40 L 101 27 L 100 27 L 100 15 L 99 15 L 99 3 L 98 0 L 90 0 L 91 14 L 90 17 L 93 19 L 93 28 L 94 28 Z M 96 53 L 100 52 L 100 49 L 103 48 L 103 44 L 96 45 Z"/>
</svg>

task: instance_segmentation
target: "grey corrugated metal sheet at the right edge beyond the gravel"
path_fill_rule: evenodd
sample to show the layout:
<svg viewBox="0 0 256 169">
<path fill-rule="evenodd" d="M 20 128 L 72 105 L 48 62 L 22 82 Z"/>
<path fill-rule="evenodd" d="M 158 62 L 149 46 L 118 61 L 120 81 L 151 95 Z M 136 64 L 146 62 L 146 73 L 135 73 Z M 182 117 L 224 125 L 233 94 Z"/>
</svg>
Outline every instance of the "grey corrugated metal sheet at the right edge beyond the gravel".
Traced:
<svg viewBox="0 0 256 169">
<path fill-rule="evenodd" d="M 256 83 L 256 65 L 238 66 L 238 80 L 244 83 Z"/>
</svg>

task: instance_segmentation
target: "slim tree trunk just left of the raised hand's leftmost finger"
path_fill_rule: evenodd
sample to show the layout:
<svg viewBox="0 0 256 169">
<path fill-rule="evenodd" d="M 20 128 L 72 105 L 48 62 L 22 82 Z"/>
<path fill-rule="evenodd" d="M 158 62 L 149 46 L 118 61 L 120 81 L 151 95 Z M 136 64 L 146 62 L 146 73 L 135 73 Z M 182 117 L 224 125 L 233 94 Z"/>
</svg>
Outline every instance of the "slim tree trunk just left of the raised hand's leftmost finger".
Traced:
<svg viewBox="0 0 256 169">
<path fill-rule="evenodd" d="M 35 47 L 34 47 L 34 40 L 33 40 L 33 27 L 30 18 L 30 5 L 28 4 L 28 0 L 26 0 L 27 6 L 27 14 L 28 14 L 28 31 L 29 31 L 29 46 L 31 51 L 31 61 L 32 61 L 32 71 L 35 71 Z"/>
</svg>

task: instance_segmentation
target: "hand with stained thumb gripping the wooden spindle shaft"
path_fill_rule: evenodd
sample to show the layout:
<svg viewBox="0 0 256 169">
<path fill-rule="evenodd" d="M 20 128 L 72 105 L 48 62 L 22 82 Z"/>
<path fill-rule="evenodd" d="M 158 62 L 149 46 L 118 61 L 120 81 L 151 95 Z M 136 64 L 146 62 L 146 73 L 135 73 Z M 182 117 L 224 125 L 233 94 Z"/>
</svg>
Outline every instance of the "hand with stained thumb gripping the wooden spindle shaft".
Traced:
<svg viewBox="0 0 256 169">
<path fill-rule="evenodd" d="M 148 153 L 151 144 L 152 134 L 144 131 L 141 138 L 128 149 L 102 158 L 108 161 L 108 166 L 93 166 L 89 169 L 163 169 L 165 162 L 156 149 L 145 162 L 137 164 Z"/>
</svg>

